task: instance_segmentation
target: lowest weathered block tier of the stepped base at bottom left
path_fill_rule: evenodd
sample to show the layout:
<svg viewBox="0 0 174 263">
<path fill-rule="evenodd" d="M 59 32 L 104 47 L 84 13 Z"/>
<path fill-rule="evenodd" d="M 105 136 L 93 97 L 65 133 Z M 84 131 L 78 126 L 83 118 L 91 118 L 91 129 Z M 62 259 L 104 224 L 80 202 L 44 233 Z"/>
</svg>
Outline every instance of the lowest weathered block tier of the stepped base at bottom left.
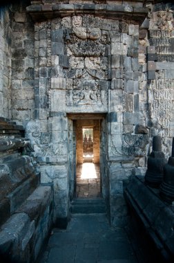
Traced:
<svg viewBox="0 0 174 263">
<path fill-rule="evenodd" d="M 39 185 L 1 226 L 0 262 L 35 262 L 52 226 L 52 198 L 52 187 Z"/>
</svg>

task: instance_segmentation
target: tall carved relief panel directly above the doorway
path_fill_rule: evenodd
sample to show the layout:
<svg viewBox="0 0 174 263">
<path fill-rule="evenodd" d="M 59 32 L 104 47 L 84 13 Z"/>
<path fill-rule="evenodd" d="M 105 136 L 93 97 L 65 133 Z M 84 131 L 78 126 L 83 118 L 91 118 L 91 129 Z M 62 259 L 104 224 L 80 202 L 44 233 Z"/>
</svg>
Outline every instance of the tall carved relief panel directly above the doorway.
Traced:
<svg viewBox="0 0 174 263">
<path fill-rule="evenodd" d="M 108 30 L 102 29 L 102 19 L 92 15 L 64 17 L 62 30 L 68 30 L 65 53 L 69 57 L 66 76 L 66 107 L 104 109 L 108 107 L 108 86 L 104 89 L 100 80 L 108 80 Z M 71 109 L 70 109 L 71 107 Z M 102 108 L 104 107 L 104 108 Z"/>
</svg>

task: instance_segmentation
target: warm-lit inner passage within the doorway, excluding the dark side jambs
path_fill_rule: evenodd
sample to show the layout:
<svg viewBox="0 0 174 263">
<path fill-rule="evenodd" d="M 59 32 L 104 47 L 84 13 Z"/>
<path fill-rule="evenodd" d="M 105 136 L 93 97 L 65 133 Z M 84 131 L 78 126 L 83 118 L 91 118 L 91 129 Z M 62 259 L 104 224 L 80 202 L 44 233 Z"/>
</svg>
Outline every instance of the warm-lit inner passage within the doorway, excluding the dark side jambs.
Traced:
<svg viewBox="0 0 174 263">
<path fill-rule="evenodd" d="M 76 132 L 76 197 L 100 197 L 100 120 L 77 120 Z"/>
</svg>

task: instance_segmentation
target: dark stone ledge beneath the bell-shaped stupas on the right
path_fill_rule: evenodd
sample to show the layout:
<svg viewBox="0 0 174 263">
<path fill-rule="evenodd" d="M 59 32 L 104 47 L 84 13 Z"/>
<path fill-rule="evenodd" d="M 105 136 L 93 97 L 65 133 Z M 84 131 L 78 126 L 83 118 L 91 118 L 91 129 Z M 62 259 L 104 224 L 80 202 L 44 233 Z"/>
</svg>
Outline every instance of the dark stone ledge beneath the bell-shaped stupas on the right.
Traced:
<svg viewBox="0 0 174 263">
<path fill-rule="evenodd" d="M 144 185 L 137 176 L 132 176 L 124 197 L 131 208 L 131 215 L 143 226 L 157 253 L 171 262 L 174 257 L 173 207 L 160 199 L 158 190 Z"/>
</svg>

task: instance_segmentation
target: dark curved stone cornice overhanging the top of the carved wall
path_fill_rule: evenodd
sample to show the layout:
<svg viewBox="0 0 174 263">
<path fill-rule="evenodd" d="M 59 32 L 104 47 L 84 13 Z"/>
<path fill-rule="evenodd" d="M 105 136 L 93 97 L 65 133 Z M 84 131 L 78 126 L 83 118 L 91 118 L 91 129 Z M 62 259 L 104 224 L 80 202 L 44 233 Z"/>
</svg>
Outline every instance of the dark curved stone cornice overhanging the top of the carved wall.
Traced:
<svg viewBox="0 0 174 263">
<path fill-rule="evenodd" d="M 67 17 L 72 15 L 95 14 L 108 19 L 131 20 L 137 24 L 142 24 L 147 8 L 131 8 L 115 4 L 32 4 L 26 8 L 34 21 L 44 21 L 56 17 Z"/>
</svg>

